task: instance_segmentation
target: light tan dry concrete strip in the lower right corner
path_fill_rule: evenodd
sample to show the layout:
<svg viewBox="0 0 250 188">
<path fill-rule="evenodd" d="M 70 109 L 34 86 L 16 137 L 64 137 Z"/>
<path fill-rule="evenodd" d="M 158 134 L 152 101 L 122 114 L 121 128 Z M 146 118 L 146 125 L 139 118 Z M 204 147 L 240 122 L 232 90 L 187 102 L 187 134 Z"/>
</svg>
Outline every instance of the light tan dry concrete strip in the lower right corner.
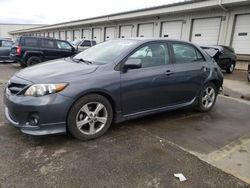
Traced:
<svg viewBox="0 0 250 188">
<path fill-rule="evenodd" d="M 200 160 L 231 174 L 250 184 L 250 138 L 243 136 L 230 144 L 208 154 L 188 150 L 170 140 L 155 135 L 144 128 L 139 128 L 148 135 L 158 139 L 160 143 L 166 142 L 175 146 Z M 242 154 L 244 152 L 244 155 Z"/>
</svg>

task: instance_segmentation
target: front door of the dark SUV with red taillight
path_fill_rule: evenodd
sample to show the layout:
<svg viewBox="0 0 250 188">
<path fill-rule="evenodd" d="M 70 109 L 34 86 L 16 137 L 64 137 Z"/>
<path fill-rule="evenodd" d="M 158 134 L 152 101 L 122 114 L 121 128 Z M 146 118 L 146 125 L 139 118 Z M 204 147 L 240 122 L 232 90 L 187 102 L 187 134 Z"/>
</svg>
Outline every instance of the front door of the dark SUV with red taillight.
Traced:
<svg viewBox="0 0 250 188">
<path fill-rule="evenodd" d="M 59 56 L 58 58 L 69 57 L 76 53 L 73 46 L 66 41 L 56 41 L 56 48 Z"/>
</svg>

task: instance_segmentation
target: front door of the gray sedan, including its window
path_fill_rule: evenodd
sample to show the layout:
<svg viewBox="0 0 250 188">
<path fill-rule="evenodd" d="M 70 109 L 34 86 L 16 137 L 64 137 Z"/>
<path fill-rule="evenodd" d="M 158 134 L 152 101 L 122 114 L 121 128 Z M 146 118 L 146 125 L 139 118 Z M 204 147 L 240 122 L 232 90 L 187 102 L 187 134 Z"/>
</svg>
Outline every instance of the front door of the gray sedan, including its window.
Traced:
<svg viewBox="0 0 250 188">
<path fill-rule="evenodd" d="M 123 115 L 167 106 L 173 94 L 171 87 L 174 81 L 174 67 L 169 59 L 167 44 L 145 44 L 128 59 L 141 59 L 142 67 L 121 72 Z"/>
</svg>

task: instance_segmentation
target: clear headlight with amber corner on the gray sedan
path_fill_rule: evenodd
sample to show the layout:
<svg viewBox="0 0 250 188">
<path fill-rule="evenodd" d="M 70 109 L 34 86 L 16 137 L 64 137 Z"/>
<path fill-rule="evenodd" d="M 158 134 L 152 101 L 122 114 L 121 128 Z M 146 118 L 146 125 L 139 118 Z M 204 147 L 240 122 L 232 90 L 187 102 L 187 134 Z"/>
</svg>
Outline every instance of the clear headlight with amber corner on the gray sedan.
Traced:
<svg viewBox="0 0 250 188">
<path fill-rule="evenodd" d="M 52 93 L 57 93 L 64 90 L 67 87 L 67 83 L 61 84 L 34 84 L 31 85 L 26 92 L 25 96 L 40 97 Z"/>
</svg>

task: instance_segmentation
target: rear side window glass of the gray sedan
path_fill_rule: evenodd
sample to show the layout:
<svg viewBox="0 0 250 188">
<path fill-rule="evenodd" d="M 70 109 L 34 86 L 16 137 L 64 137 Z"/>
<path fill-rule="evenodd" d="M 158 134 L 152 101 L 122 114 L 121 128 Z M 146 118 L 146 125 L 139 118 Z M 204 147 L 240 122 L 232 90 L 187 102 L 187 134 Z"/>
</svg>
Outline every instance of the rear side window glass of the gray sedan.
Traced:
<svg viewBox="0 0 250 188">
<path fill-rule="evenodd" d="M 191 45 L 174 43 L 172 47 L 176 63 L 191 63 L 203 60 L 201 53 Z"/>
</svg>

